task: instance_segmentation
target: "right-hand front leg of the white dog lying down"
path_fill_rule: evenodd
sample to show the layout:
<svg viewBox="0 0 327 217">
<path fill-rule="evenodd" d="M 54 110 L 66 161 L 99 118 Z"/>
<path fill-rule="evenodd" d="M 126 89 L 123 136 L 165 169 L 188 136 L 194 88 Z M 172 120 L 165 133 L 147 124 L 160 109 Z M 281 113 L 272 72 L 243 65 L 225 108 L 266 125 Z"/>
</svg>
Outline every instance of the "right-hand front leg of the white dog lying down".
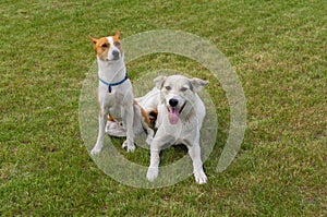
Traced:
<svg viewBox="0 0 327 217">
<path fill-rule="evenodd" d="M 207 176 L 205 174 L 203 170 L 203 162 L 201 160 L 201 147 L 199 147 L 199 140 L 195 140 L 194 144 L 189 146 L 189 155 L 193 161 L 193 173 L 195 181 L 198 184 L 205 184 L 207 183 Z"/>
</svg>

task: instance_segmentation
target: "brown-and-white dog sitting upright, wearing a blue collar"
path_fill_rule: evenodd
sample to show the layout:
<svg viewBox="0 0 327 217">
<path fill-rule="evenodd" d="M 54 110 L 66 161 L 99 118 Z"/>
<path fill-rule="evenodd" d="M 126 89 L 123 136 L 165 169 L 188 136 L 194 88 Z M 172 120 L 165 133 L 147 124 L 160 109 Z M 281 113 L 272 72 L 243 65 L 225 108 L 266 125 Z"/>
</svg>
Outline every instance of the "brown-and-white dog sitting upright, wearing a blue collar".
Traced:
<svg viewBox="0 0 327 217">
<path fill-rule="evenodd" d="M 122 122 L 125 125 L 126 140 L 122 147 L 126 147 L 128 152 L 134 152 L 134 129 L 146 130 L 147 143 L 150 143 L 154 131 L 145 121 L 146 112 L 142 112 L 140 106 L 134 101 L 132 84 L 124 63 L 120 33 L 117 32 L 113 36 L 99 39 L 89 36 L 89 39 L 94 44 L 98 63 L 97 97 L 100 107 L 98 137 L 90 154 L 98 154 L 102 149 L 108 114 L 116 122 Z"/>
</svg>

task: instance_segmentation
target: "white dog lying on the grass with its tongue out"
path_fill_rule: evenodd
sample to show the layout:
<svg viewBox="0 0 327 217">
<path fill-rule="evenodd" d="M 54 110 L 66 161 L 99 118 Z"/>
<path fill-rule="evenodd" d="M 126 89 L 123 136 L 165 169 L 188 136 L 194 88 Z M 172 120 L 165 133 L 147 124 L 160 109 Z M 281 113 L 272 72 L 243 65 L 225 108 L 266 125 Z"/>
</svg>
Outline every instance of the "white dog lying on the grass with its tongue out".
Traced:
<svg viewBox="0 0 327 217">
<path fill-rule="evenodd" d="M 154 181 L 159 173 L 159 153 L 164 147 L 184 144 L 193 161 L 195 181 L 207 182 L 203 170 L 199 130 L 205 117 L 205 106 L 196 94 L 208 82 L 183 75 L 159 76 L 155 84 L 161 93 L 156 126 L 158 131 L 150 144 L 150 165 L 147 179 Z"/>
</svg>

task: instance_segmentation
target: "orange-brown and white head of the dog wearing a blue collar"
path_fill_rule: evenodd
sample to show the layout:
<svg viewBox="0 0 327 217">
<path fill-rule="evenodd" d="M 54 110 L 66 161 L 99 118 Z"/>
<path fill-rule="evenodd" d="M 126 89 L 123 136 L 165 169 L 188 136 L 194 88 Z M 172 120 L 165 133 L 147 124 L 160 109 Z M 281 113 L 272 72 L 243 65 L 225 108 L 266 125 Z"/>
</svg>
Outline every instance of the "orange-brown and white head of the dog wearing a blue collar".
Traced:
<svg viewBox="0 0 327 217">
<path fill-rule="evenodd" d="M 88 36 L 94 44 L 94 50 L 96 51 L 97 58 L 102 61 L 117 61 L 122 58 L 123 51 L 120 41 L 120 33 L 116 32 L 114 36 L 102 37 L 96 39 Z"/>
</svg>

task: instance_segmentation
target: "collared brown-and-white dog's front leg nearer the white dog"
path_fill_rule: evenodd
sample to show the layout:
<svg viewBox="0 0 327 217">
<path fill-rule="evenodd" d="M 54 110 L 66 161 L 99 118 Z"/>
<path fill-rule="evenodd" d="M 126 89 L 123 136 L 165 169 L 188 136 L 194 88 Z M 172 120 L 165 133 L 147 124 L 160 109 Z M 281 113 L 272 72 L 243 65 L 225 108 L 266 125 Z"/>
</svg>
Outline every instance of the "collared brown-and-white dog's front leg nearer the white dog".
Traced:
<svg viewBox="0 0 327 217">
<path fill-rule="evenodd" d="M 134 121 L 134 109 L 133 106 L 128 106 L 123 111 L 123 123 L 126 126 L 126 140 L 123 142 L 122 147 L 126 147 L 128 152 L 134 152 L 134 130 L 133 130 L 133 121 Z"/>
</svg>

